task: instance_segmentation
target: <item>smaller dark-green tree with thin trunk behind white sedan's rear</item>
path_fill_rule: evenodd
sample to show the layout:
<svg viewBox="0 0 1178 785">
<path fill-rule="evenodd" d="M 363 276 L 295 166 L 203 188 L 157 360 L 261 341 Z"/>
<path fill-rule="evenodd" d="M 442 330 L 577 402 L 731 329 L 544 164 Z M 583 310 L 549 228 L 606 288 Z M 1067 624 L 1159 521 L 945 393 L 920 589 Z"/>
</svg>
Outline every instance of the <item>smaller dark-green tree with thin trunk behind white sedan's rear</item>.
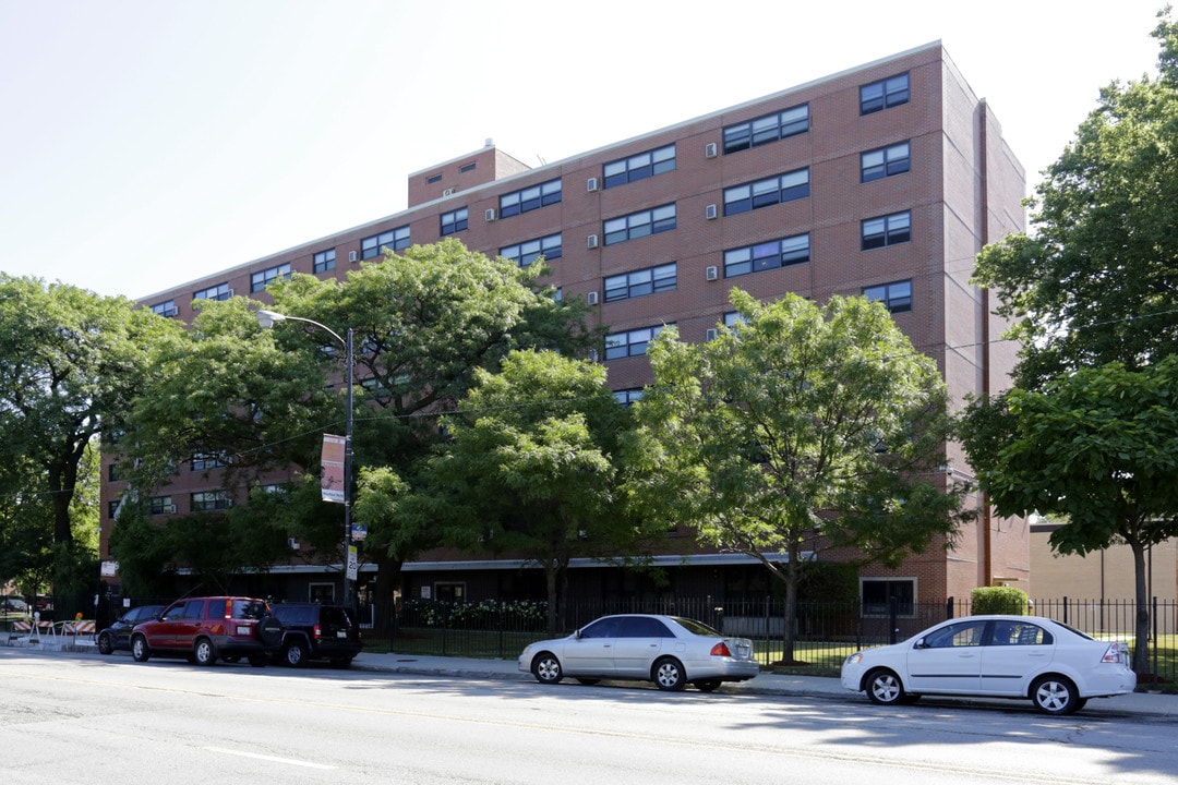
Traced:
<svg viewBox="0 0 1178 785">
<path fill-rule="evenodd" d="M 1081 368 L 1038 392 L 1011 390 L 971 407 L 962 433 L 999 514 L 1066 518 L 1051 534 L 1060 553 L 1130 547 L 1133 667 L 1149 672 L 1145 554 L 1178 535 L 1178 355 L 1140 371 Z"/>
</svg>

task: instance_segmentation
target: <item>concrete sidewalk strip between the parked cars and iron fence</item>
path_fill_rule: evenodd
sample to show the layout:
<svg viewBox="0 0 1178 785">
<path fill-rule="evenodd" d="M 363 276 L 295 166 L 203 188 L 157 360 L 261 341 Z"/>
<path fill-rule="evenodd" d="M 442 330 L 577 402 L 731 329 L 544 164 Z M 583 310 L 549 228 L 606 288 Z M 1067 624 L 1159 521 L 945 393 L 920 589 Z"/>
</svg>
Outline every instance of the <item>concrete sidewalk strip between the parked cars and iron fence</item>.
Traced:
<svg viewBox="0 0 1178 785">
<path fill-rule="evenodd" d="M 535 681 L 535 677 L 518 670 L 516 660 L 472 659 L 463 657 L 422 657 L 418 654 L 382 654 L 364 652 L 352 661 L 352 668 L 358 671 L 384 671 L 392 673 L 410 673 L 421 676 L 449 676 L 471 679 L 501 679 L 508 681 Z M 762 672 L 748 681 L 728 683 L 720 687 L 721 692 L 749 693 L 765 696 L 803 696 L 838 700 L 861 700 L 867 703 L 863 693 L 843 690 L 836 678 L 818 676 L 789 676 Z M 985 698 L 962 698 L 960 703 L 981 703 L 987 705 L 1018 705 L 1027 707 L 1031 701 L 992 700 Z M 1178 721 L 1178 696 L 1160 692 L 1133 692 L 1112 698 L 1093 698 L 1080 712 L 1090 714 L 1131 714 L 1151 717 L 1162 720 Z"/>
</svg>

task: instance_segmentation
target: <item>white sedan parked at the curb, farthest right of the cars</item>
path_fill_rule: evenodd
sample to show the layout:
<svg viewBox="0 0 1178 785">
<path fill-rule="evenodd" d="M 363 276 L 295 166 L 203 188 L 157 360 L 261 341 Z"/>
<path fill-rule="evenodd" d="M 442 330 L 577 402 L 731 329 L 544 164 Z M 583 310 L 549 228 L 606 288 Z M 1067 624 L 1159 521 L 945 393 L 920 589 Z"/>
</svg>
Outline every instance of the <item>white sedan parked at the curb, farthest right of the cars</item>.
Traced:
<svg viewBox="0 0 1178 785">
<path fill-rule="evenodd" d="M 1129 647 L 1026 616 L 949 619 L 892 646 L 855 652 L 842 664 L 842 686 L 872 703 L 920 696 L 1028 698 L 1039 711 L 1071 714 L 1088 698 L 1132 692 Z"/>
</svg>

